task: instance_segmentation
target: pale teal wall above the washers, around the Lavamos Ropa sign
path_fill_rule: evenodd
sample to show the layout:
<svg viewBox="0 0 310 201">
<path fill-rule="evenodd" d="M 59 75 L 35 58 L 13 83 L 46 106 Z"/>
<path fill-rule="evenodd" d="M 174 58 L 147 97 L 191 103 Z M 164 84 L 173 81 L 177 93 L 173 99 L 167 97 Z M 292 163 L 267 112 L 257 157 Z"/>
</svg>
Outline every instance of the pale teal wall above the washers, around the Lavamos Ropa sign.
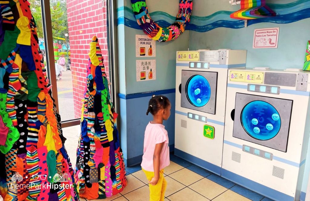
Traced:
<svg viewBox="0 0 310 201">
<path fill-rule="evenodd" d="M 281 4 L 292 3 L 295 1 L 269 0 L 267 2 L 271 4 L 276 4 L 274 5 L 274 7 L 277 8 L 281 7 Z M 209 9 L 202 9 L 202 8 L 209 8 Z M 297 4 L 295 7 L 288 7 L 285 9 L 274 9 L 274 10 L 277 12 L 277 15 L 281 15 L 281 12 L 290 13 L 298 10 L 300 11 L 303 8 L 310 8 L 310 1 L 305 2 L 302 5 Z M 240 9 L 240 7 L 231 6 L 225 0 L 219 0 L 219 1 L 196 0 L 193 6 L 193 15 L 210 16 L 211 14 L 218 11 L 236 11 L 237 9 Z M 226 22 L 228 22 L 229 19 L 227 19 L 227 17 L 228 15 L 215 16 L 217 20 L 224 19 L 227 20 Z M 197 22 L 195 21 L 195 23 Z M 310 40 L 309 25 L 310 25 L 310 18 L 299 20 L 297 22 L 289 24 L 259 23 L 241 29 L 216 28 L 204 33 L 190 31 L 189 49 L 197 50 L 208 48 L 214 50 L 214 49 L 229 48 L 229 49 L 247 50 L 246 67 L 249 68 L 254 67 L 270 67 L 273 69 L 303 68 L 307 41 Z M 253 49 L 252 46 L 253 46 L 254 29 L 269 28 L 269 27 L 280 27 L 278 48 Z"/>
</svg>

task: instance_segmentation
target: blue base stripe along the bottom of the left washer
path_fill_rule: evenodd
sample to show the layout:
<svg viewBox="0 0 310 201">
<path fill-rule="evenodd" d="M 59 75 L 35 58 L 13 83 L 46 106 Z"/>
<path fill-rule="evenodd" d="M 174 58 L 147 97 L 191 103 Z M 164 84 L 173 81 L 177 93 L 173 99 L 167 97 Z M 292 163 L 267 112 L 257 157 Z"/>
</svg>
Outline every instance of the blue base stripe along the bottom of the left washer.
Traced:
<svg viewBox="0 0 310 201">
<path fill-rule="evenodd" d="M 184 151 L 175 149 L 176 156 L 179 156 L 182 159 L 185 159 L 201 168 L 205 168 L 207 170 L 210 170 L 211 172 L 214 172 L 217 175 L 221 175 L 221 167 L 214 165 L 212 163 L 209 163 L 207 161 L 204 161 L 202 159 L 197 158 L 196 156 L 193 156 L 191 154 L 185 153 Z"/>
</svg>

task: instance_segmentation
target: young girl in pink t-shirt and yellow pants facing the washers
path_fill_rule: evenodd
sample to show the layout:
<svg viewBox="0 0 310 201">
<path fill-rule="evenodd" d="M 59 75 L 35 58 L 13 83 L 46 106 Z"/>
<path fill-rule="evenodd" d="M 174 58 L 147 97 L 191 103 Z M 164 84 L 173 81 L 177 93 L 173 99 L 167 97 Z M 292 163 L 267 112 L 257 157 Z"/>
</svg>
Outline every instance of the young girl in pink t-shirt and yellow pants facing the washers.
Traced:
<svg viewBox="0 0 310 201">
<path fill-rule="evenodd" d="M 150 189 L 150 201 L 163 201 L 167 182 L 164 168 L 170 164 L 169 139 L 163 120 L 170 117 L 171 104 L 165 96 L 153 96 L 148 103 L 148 113 L 153 115 L 144 134 L 144 154 L 141 167 L 145 173 Z"/>
</svg>

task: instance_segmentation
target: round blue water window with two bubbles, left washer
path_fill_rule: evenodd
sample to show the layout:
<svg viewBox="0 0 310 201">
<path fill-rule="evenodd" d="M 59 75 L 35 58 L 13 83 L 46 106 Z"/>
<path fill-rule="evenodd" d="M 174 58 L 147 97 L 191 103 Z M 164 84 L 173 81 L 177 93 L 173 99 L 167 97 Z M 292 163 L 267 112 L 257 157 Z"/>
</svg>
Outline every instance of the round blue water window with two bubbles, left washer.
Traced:
<svg viewBox="0 0 310 201">
<path fill-rule="evenodd" d="M 208 80 L 201 75 L 194 75 L 189 78 L 186 95 L 192 105 L 196 107 L 205 106 L 211 96 L 211 88 Z"/>
</svg>

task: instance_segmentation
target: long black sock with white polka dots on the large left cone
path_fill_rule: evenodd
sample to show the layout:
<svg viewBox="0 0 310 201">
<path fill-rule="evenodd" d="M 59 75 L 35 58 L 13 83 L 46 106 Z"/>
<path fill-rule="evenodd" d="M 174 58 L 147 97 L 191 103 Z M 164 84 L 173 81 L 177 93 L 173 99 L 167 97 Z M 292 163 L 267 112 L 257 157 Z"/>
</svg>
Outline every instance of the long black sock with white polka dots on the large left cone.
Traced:
<svg viewBox="0 0 310 201">
<path fill-rule="evenodd" d="M 17 129 L 20 133 L 20 138 L 16 141 L 16 146 L 18 148 L 17 154 L 24 154 L 27 153 L 26 143 L 28 136 L 28 122 L 24 118 L 25 114 L 27 114 L 26 101 L 15 99 L 15 110 L 17 117 Z"/>
</svg>

